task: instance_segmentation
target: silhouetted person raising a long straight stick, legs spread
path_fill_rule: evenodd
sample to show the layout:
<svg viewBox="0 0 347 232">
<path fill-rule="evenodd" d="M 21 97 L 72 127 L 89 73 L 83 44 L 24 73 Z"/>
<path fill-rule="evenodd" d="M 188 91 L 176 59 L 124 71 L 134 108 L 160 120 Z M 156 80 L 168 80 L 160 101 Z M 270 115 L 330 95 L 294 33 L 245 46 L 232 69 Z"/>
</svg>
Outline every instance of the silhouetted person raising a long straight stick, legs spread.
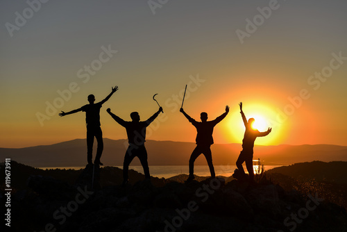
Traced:
<svg viewBox="0 0 347 232">
<path fill-rule="evenodd" d="M 216 126 L 221 120 L 228 115 L 229 112 L 229 106 L 226 106 L 226 113 L 223 113 L 223 115 L 217 117 L 216 119 L 208 122 L 208 114 L 203 112 L 200 114 L 201 122 L 196 122 L 195 119 L 192 119 L 187 113 L 185 113 L 185 110 L 183 108 L 180 108 L 180 112 L 187 117 L 189 122 L 195 126 L 197 134 L 196 134 L 196 147 L 194 151 L 192 152 L 192 155 L 189 159 L 189 177 L 187 179 L 187 182 L 192 181 L 194 179 L 194 161 L 198 156 L 203 154 L 208 161 L 208 167 L 210 167 L 211 177 L 215 178 L 216 174 L 214 173 L 214 167 L 212 164 L 212 153 L 211 153 L 211 145 L 213 144 L 213 128 Z"/>
</svg>

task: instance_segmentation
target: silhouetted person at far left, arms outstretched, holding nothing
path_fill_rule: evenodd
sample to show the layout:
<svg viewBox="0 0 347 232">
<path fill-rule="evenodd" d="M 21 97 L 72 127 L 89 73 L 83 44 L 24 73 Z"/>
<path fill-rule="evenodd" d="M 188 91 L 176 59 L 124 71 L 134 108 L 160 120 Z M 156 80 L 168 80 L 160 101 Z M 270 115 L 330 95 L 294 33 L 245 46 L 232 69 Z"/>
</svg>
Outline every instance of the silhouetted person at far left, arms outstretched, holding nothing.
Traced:
<svg viewBox="0 0 347 232">
<path fill-rule="evenodd" d="M 94 143 L 94 137 L 96 138 L 96 141 L 98 142 L 98 148 L 96 149 L 96 157 L 94 160 L 95 165 L 103 165 L 103 163 L 100 162 L 101 154 L 103 153 L 103 132 L 101 131 L 101 124 L 100 124 L 100 108 L 110 99 L 112 94 L 118 90 L 118 86 L 116 85 L 115 88 L 112 88 L 112 91 L 110 94 L 108 94 L 108 97 L 105 97 L 102 101 L 99 103 L 94 103 L 95 97 L 93 94 L 90 94 L 88 96 L 89 104 L 82 106 L 81 108 L 78 108 L 76 110 L 71 110 L 70 112 L 65 113 L 62 111 L 60 113 L 60 116 L 65 115 L 71 115 L 73 113 L 77 113 L 80 111 L 85 112 L 85 122 L 87 123 L 87 162 L 88 165 L 92 165 L 92 156 L 93 156 L 93 143 Z"/>
</svg>

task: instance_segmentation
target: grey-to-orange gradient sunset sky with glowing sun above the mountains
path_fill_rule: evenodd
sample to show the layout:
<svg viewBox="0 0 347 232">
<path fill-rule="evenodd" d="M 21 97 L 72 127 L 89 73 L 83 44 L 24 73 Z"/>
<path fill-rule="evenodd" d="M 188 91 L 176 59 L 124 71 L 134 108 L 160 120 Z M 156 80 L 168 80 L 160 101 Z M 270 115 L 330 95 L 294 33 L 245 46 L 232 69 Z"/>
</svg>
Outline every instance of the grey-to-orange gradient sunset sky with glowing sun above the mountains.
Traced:
<svg viewBox="0 0 347 232">
<path fill-rule="evenodd" d="M 243 101 L 246 117 L 260 115 L 273 127 L 256 144 L 347 145 L 347 60 L 332 60 L 333 53 L 347 57 L 347 1 L 282 0 L 267 19 L 257 17 L 257 8 L 271 2 L 167 1 L 153 14 L 148 1 L 48 1 L 11 37 L 6 23 L 16 25 L 15 13 L 30 10 L 26 1 L 1 1 L 0 147 L 85 138 L 85 113 L 58 113 L 87 104 L 88 94 L 101 101 L 114 85 L 119 91 L 101 108 L 104 138 L 126 138 L 107 108 L 126 120 L 132 111 L 147 119 L 158 110 L 152 99 L 158 93 L 165 115 L 147 139 L 194 142 L 179 102 L 196 78 L 201 82 L 189 84 L 185 99 L 189 115 L 199 119 L 205 111 L 214 119 L 230 106 L 214 129 L 215 143 L 242 142 Z M 254 17 L 264 20 L 240 42 L 236 31 L 246 32 L 246 19 Z M 82 77 L 109 46 L 117 53 Z M 328 72 L 331 62 L 335 69 L 324 81 L 310 78 Z M 37 113 L 46 115 L 46 102 L 71 83 L 76 91 L 40 124 Z M 305 90 L 310 97 L 289 106 Z"/>
</svg>

